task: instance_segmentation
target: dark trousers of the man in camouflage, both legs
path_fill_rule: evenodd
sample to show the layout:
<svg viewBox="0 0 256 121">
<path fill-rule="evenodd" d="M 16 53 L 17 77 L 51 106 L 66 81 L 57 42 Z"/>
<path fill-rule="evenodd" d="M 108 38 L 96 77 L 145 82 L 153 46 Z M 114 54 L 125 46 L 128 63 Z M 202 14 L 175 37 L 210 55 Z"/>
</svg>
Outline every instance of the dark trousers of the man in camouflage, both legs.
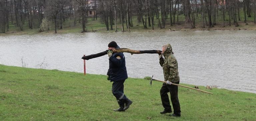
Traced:
<svg viewBox="0 0 256 121">
<path fill-rule="evenodd" d="M 176 84 L 179 84 L 180 82 L 175 82 Z M 173 113 L 180 115 L 180 102 L 178 98 L 178 86 L 176 85 L 168 85 L 163 83 L 162 88 L 160 89 L 160 95 L 161 95 L 161 100 L 164 109 L 167 111 L 171 111 L 172 107 L 170 105 L 169 97 L 168 97 L 168 92 L 170 92 L 171 95 L 171 101 L 172 101 L 172 106 L 173 106 Z"/>
</svg>

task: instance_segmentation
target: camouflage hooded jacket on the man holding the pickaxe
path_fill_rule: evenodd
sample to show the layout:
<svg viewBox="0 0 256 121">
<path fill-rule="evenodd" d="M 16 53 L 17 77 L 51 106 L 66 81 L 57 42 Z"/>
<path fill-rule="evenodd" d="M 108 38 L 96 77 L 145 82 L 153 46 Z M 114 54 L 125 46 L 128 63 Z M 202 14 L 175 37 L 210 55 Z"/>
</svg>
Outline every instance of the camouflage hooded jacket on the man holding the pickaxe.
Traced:
<svg viewBox="0 0 256 121">
<path fill-rule="evenodd" d="M 167 45 L 167 49 L 164 51 L 163 55 L 165 59 L 160 58 L 159 63 L 163 67 L 164 80 L 169 80 L 171 82 L 180 81 L 178 62 L 172 54 L 172 47 L 170 44 Z"/>
</svg>

